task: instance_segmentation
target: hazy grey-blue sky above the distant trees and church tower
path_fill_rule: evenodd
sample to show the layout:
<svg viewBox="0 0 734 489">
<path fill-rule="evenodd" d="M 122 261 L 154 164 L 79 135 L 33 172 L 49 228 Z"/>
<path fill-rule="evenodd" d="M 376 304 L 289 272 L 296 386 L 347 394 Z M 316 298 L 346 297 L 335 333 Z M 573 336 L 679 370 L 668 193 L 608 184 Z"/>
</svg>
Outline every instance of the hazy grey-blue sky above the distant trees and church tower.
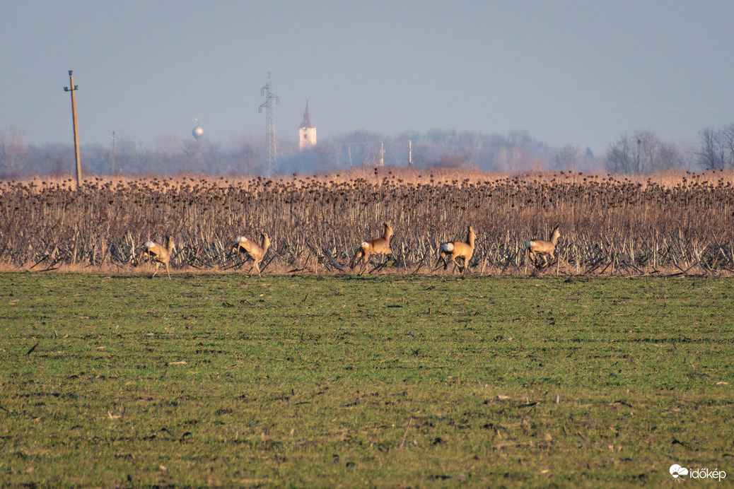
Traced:
<svg viewBox="0 0 734 489">
<path fill-rule="evenodd" d="M 734 1 L 0 0 L 0 130 L 32 144 L 117 135 L 279 139 L 306 99 L 327 139 L 352 130 L 528 130 L 603 152 L 734 122 Z"/>
</svg>

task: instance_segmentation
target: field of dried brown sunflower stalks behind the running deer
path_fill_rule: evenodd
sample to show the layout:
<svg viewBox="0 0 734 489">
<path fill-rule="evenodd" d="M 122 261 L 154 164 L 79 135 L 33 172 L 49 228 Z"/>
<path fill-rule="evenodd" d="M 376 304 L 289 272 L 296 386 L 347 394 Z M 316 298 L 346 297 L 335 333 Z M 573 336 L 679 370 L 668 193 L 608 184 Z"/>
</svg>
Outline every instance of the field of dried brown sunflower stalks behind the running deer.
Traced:
<svg viewBox="0 0 734 489">
<path fill-rule="evenodd" d="M 142 243 L 172 234 L 174 271 L 239 271 L 238 235 L 268 232 L 266 273 L 341 273 L 395 230 L 381 271 L 434 273 L 441 242 L 477 232 L 468 273 L 729 274 L 734 172 L 619 177 L 471 169 L 351 169 L 273 180 L 181 175 L 0 183 L 0 269 L 145 271 Z M 523 243 L 561 227 L 557 260 L 525 268 Z M 249 267 L 248 267 L 249 268 Z M 442 272 L 443 273 L 443 272 Z"/>
</svg>

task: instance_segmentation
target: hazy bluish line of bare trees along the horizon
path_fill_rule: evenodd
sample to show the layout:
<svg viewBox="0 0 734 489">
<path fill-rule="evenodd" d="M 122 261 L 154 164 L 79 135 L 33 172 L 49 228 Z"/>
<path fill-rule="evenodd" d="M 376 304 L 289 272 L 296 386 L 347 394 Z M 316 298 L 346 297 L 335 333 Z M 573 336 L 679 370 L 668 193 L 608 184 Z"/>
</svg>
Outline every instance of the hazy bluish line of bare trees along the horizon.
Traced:
<svg viewBox="0 0 734 489">
<path fill-rule="evenodd" d="M 228 144 L 166 136 L 148 145 L 118 137 L 110 144 L 83 144 L 81 163 L 90 174 L 264 175 L 264 138 L 243 137 Z M 74 165 L 71 144 L 26 144 L 23 130 L 0 129 L 0 177 L 65 174 Z M 330 172 L 353 166 L 476 168 L 496 172 L 571 170 L 619 174 L 734 168 L 734 124 L 705 128 L 698 144 L 662 141 L 653 130 L 622 133 L 604 155 L 575 144 L 551 147 L 526 130 L 507 134 L 479 131 L 406 131 L 385 136 L 352 131 L 299 151 L 295 141 L 280 141 L 280 174 Z"/>
</svg>

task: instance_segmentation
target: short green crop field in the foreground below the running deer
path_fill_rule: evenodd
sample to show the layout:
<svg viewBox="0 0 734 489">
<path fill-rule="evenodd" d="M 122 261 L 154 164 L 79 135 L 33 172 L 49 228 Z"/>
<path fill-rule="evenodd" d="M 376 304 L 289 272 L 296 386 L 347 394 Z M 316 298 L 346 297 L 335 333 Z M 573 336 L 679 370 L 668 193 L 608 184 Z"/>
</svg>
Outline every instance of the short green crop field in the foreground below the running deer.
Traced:
<svg viewBox="0 0 734 489">
<path fill-rule="evenodd" d="M 734 473 L 733 298 L 703 278 L 0 274 L 0 485 Z"/>
</svg>

